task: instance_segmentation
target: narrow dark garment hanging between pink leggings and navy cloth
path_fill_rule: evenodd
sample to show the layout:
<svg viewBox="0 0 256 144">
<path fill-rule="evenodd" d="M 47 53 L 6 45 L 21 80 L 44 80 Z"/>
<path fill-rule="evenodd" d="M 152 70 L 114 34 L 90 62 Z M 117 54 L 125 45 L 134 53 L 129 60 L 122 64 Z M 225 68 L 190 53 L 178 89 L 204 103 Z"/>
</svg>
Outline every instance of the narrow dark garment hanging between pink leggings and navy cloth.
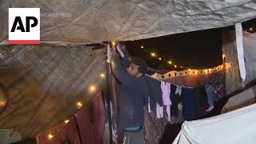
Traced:
<svg viewBox="0 0 256 144">
<path fill-rule="evenodd" d="M 172 102 L 171 107 L 171 115 L 178 117 L 178 104 L 182 102 L 182 93 L 177 93 L 176 90 L 178 89 L 177 86 L 171 85 L 170 86 L 170 100 Z"/>
</svg>

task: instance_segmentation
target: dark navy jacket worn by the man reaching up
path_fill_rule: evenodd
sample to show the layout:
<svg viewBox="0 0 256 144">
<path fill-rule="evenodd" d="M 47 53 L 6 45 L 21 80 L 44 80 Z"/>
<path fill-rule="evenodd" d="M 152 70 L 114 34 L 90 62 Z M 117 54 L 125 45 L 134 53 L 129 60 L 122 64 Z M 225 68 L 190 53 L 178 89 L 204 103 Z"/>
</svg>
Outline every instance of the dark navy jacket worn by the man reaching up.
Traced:
<svg viewBox="0 0 256 144">
<path fill-rule="evenodd" d="M 112 72 L 118 82 L 121 83 L 118 86 L 118 127 L 120 130 L 133 126 L 143 126 L 143 107 L 148 102 L 145 78 L 134 77 L 126 71 L 129 66 L 128 52 L 125 49 L 122 51 L 125 58 L 121 58 L 116 51 L 111 58 Z"/>
</svg>

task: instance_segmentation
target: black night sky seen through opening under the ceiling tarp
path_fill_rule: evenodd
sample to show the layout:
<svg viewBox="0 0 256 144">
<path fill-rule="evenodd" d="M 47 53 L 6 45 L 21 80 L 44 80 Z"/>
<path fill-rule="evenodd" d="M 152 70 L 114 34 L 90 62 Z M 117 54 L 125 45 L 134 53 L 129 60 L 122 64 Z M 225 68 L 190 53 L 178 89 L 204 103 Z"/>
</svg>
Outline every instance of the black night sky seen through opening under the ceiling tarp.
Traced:
<svg viewBox="0 0 256 144">
<path fill-rule="evenodd" d="M 250 32 L 255 32 L 256 18 L 243 22 L 242 25 L 244 30 L 254 27 Z M 126 46 L 132 57 L 144 58 L 148 65 L 156 70 L 213 68 L 222 64 L 222 30 L 224 29 L 234 29 L 234 26 L 142 39 L 126 42 Z M 141 46 L 144 46 L 144 49 Z M 151 57 L 151 52 L 155 52 L 157 58 Z M 159 61 L 159 57 L 165 58 L 165 61 Z M 169 60 L 173 62 L 172 65 L 166 62 Z M 178 67 L 175 68 L 174 65 Z"/>
</svg>

